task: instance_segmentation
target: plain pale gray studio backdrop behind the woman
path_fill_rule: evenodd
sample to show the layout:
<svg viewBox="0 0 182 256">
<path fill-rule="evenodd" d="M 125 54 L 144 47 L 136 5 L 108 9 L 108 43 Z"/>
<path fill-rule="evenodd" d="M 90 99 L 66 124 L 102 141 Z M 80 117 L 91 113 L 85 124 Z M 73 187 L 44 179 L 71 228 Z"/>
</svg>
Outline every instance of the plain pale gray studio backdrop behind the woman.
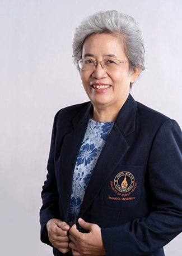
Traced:
<svg viewBox="0 0 182 256">
<path fill-rule="evenodd" d="M 101 10 L 134 17 L 146 70 L 131 94 L 182 127 L 181 7 L 181 0 L 0 1 L 1 255 L 52 255 L 40 242 L 39 209 L 53 118 L 88 101 L 72 60 L 75 28 Z M 165 246 L 166 256 L 181 256 L 181 238 Z"/>
</svg>

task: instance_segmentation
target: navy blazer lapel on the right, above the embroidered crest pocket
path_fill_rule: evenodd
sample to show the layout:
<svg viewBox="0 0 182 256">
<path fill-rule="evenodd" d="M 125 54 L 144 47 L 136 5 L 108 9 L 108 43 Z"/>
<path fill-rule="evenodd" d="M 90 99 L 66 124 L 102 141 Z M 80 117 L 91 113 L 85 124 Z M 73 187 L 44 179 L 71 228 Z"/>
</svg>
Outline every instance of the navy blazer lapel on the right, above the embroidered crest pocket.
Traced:
<svg viewBox="0 0 182 256">
<path fill-rule="evenodd" d="M 128 151 L 130 146 L 125 137 L 134 132 L 136 110 L 137 103 L 129 95 L 97 160 L 79 215 L 82 215 L 87 210 L 110 174 L 119 164 L 119 161 Z"/>
</svg>

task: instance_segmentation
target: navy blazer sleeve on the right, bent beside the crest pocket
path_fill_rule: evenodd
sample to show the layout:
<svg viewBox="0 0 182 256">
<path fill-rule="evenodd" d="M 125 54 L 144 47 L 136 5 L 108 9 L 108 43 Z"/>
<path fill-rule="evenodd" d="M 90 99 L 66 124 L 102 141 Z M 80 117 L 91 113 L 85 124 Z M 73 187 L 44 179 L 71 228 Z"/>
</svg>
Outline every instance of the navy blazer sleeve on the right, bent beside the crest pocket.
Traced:
<svg viewBox="0 0 182 256">
<path fill-rule="evenodd" d="M 106 255 L 146 255 L 182 231 L 182 135 L 174 120 L 158 129 L 148 159 L 152 212 L 122 226 L 102 228 Z"/>
</svg>

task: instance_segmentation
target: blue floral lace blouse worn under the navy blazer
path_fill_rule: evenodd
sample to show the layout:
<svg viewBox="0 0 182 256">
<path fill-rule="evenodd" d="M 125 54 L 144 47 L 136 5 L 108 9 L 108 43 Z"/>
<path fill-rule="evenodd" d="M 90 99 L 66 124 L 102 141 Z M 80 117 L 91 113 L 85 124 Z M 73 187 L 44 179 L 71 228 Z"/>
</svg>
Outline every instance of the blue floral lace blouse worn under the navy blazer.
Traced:
<svg viewBox="0 0 182 256">
<path fill-rule="evenodd" d="M 71 226 L 76 223 L 88 182 L 113 125 L 114 122 L 99 123 L 92 119 L 88 122 L 73 173 L 68 221 Z"/>
</svg>

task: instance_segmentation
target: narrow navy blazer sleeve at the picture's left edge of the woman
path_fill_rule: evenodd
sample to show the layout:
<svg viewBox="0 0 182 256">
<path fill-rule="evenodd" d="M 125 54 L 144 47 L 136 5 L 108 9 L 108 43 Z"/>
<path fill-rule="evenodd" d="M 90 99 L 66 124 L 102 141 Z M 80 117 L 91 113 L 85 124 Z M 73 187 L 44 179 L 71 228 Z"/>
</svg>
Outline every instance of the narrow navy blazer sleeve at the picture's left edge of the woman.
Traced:
<svg viewBox="0 0 182 256">
<path fill-rule="evenodd" d="M 54 149 L 55 149 L 55 138 L 57 134 L 56 123 L 57 123 L 58 113 L 55 115 L 52 140 L 50 145 L 50 153 L 48 159 L 48 174 L 46 176 L 46 181 L 44 182 L 43 190 L 41 192 L 41 197 L 43 199 L 43 206 L 40 209 L 40 225 L 41 225 L 41 241 L 52 246 L 48 238 L 48 232 L 46 230 L 46 223 L 49 219 L 57 218 L 60 219 L 59 212 L 59 201 L 58 201 L 58 189 L 57 182 L 55 179 L 55 168 L 54 168 Z"/>
</svg>

